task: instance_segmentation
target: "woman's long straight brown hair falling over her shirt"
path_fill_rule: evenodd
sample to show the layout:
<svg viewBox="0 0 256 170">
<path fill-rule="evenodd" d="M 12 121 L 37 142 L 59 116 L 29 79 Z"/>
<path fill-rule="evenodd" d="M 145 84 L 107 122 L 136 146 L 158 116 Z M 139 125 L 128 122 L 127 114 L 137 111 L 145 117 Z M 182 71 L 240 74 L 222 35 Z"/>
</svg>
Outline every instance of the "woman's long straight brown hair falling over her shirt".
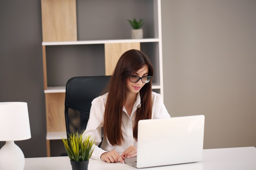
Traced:
<svg viewBox="0 0 256 170">
<path fill-rule="evenodd" d="M 153 76 L 153 66 L 148 57 L 139 50 L 129 50 L 121 55 L 114 73 L 110 79 L 108 98 L 104 114 L 104 136 L 108 138 L 111 145 L 121 145 L 124 137 L 121 131 L 122 112 L 126 102 L 126 82 L 130 75 L 136 73 L 144 66 L 148 66 L 148 75 Z M 133 138 L 137 141 L 138 121 L 151 119 L 152 81 L 145 84 L 139 91 L 141 106 L 137 108 L 135 124 L 133 125 Z"/>
</svg>

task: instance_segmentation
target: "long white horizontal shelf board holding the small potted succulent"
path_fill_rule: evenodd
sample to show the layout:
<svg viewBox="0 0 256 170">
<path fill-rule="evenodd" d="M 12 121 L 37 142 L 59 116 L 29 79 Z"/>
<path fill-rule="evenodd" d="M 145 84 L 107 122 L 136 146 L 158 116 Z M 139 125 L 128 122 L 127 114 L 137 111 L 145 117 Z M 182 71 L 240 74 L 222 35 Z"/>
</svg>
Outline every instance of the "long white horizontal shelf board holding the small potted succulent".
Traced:
<svg viewBox="0 0 256 170">
<path fill-rule="evenodd" d="M 159 38 L 42 42 L 42 45 L 50 46 L 50 45 L 108 44 L 108 43 L 131 43 L 131 42 L 159 42 Z"/>
</svg>

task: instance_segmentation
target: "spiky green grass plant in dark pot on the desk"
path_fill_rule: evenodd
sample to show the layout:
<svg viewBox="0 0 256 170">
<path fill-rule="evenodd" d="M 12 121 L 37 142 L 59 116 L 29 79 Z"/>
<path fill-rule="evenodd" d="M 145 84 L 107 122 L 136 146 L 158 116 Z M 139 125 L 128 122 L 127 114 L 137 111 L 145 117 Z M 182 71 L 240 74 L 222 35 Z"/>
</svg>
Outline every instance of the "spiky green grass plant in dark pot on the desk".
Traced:
<svg viewBox="0 0 256 170">
<path fill-rule="evenodd" d="M 94 150 L 94 139 L 76 133 L 69 134 L 68 139 L 63 139 L 63 144 L 70 158 L 72 170 L 87 170 L 89 158 Z"/>
</svg>

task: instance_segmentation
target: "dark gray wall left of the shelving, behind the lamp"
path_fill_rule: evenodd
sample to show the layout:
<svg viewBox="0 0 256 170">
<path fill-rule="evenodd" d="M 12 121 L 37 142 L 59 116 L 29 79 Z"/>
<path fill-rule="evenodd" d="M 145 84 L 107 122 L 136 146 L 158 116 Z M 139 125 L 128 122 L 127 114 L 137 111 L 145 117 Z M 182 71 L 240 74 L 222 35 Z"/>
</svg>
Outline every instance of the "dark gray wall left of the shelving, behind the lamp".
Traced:
<svg viewBox="0 0 256 170">
<path fill-rule="evenodd" d="M 15 142 L 25 157 L 46 156 L 40 9 L 40 0 L 0 1 L 0 102 L 28 103 L 31 139 Z"/>
</svg>

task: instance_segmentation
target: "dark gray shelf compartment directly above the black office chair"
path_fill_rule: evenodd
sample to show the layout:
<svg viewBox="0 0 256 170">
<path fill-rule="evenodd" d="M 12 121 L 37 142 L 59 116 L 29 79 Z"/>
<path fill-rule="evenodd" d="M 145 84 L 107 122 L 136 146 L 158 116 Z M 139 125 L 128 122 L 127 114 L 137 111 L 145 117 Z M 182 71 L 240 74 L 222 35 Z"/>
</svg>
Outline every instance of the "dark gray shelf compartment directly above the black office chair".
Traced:
<svg viewBox="0 0 256 170">
<path fill-rule="evenodd" d="M 47 86 L 76 76 L 105 75 L 104 44 L 46 46 Z"/>
</svg>

